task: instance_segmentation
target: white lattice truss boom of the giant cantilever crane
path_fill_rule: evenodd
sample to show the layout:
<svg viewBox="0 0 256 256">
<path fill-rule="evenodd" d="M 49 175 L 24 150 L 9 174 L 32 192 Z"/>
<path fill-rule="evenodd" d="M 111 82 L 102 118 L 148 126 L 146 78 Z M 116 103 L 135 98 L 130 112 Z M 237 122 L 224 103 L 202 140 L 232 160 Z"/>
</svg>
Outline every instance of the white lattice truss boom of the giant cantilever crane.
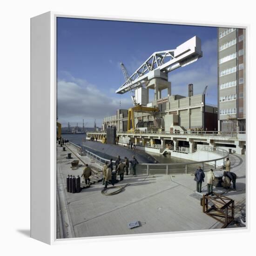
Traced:
<svg viewBox="0 0 256 256">
<path fill-rule="evenodd" d="M 202 57 L 201 40 L 194 36 L 176 49 L 159 51 L 151 54 L 148 59 L 115 91 L 124 94 L 131 88 L 139 88 L 149 80 L 151 72 L 160 70 L 168 73 L 178 67 L 184 67 Z"/>
</svg>

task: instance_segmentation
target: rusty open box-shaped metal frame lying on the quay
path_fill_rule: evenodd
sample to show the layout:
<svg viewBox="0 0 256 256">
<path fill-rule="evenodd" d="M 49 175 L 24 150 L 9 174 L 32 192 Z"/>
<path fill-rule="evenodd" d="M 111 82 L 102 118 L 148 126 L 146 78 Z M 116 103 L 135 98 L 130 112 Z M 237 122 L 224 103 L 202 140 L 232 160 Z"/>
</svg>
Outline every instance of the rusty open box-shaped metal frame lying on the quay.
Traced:
<svg viewBox="0 0 256 256">
<path fill-rule="evenodd" d="M 212 205 L 209 205 L 209 203 L 212 203 Z M 223 224 L 222 229 L 234 221 L 235 202 L 227 196 L 210 192 L 203 195 L 201 205 L 203 213 Z"/>
</svg>

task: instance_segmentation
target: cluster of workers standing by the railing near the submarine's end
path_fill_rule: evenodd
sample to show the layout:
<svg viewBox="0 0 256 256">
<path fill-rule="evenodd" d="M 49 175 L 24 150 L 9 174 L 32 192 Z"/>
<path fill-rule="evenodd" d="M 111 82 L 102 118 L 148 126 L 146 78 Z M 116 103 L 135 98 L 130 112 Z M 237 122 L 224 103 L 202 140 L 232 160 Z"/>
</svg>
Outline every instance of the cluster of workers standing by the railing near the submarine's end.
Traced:
<svg viewBox="0 0 256 256">
<path fill-rule="evenodd" d="M 120 155 L 117 156 L 117 159 L 115 161 L 115 174 L 120 176 L 120 181 L 123 181 L 124 173 L 128 175 L 128 170 L 130 168 L 130 173 L 132 175 L 136 175 L 136 165 L 139 162 L 133 155 L 132 160 L 129 161 L 127 157 L 124 158 L 124 161 L 121 161 Z M 104 188 L 108 188 L 108 183 L 110 182 L 113 186 L 115 184 L 115 181 L 112 179 L 112 172 L 114 171 L 113 168 L 113 159 L 111 158 L 110 161 L 106 161 L 105 165 L 103 166 L 103 181 L 102 185 L 104 185 Z"/>
</svg>

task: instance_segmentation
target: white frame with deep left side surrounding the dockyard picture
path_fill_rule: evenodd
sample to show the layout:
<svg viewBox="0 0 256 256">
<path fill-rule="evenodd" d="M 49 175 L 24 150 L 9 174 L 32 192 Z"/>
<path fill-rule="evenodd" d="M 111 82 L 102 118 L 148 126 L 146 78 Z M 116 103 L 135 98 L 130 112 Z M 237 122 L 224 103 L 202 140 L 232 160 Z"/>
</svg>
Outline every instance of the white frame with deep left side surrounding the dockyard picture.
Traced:
<svg viewBox="0 0 256 256">
<path fill-rule="evenodd" d="M 249 25 L 204 24 L 175 20 L 134 20 L 123 17 L 88 17 L 47 12 L 31 19 L 31 237 L 48 244 L 86 237 L 56 239 L 56 19 L 70 17 L 98 20 L 140 21 L 180 25 L 244 28 Z M 246 47 L 248 40 L 246 40 Z M 248 49 L 248 47 L 247 47 Z M 248 67 L 248 50 L 246 51 Z M 246 70 L 248 75 L 249 68 Z M 248 92 L 247 82 L 247 92 Z M 247 140 L 248 141 L 248 140 Z M 247 176 L 247 170 L 246 170 Z M 248 193 L 248 192 L 247 192 Z M 248 205 L 248 196 L 247 202 Z M 197 232 L 197 231 L 193 231 Z M 192 232 L 192 233 L 193 233 Z M 207 231 L 209 232 L 209 231 Z M 176 232 L 175 232 L 176 233 Z M 182 233 L 182 232 L 178 232 Z M 171 234 L 171 232 L 169 233 Z M 156 234 L 153 234 L 156 235 Z M 102 238 L 102 237 L 99 237 Z"/>
</svg>

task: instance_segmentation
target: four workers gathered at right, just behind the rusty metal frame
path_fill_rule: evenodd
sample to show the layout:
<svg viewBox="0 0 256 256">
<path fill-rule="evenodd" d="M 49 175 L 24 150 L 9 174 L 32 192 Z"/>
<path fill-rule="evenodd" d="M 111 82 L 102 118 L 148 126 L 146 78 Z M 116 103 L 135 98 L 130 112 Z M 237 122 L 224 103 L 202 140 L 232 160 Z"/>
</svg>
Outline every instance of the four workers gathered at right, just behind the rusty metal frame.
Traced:
<svg viewBox="0 0 256 256">
<path fill-rule="evenodd" d="M 222 187 L 224 189 L 229 189 L 231 186 L 231 182 L 233 183 L 233 189 L 236 190 L 236 174 L 230 171 L 231 163 L 229 158 L 227 157 L 225 162 L 225 171 L 223 172 L 222 177 Z M 204 182 L 205 174 L 201 168 L 198 166 L 197 170 L 195 171 L 195 178 L 194 181 L 196 182 L 196 191 L 201 193 L 202 192 L 202 182 Z M 207 191 L 208 193 L 213 193 L 213 184 L 215 181 L 215 175 L 213 169 L 210 169 L 207 173 Z M 211 194 L 212 195 L 212 194 Z"/>
</svg>

